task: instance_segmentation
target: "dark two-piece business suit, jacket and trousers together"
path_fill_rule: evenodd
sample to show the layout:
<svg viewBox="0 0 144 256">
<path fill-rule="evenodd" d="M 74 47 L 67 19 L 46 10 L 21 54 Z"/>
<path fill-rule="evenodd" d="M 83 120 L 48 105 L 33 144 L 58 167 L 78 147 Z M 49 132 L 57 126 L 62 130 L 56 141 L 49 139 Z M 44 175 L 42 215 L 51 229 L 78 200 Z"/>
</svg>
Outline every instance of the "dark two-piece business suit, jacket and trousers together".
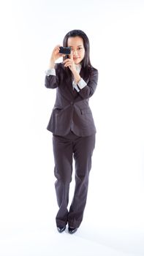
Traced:
<svg viewBox="0 0 144 256">
<path fill-rule="evenodd" d="M 59 69 L 57 67 L 59 66 Z M 89 97 L 97 85 L 97 69 L 91 67 L 87 85 L 79 92 L 72 89 L 72 78 L 61 79 L 62 64 L 57 64 L 56 76 L 45 77 L 45 86 L 56 88 L 56 102 L 47 129 L 53 132 L 53 154 L 55 159 L 56 196 L 58 200 L 57 226 L 69 222 L 79 227 L 83 219 L 88 192 L 88 175 L 91 170 L 91 156 L 95 146 L 96 127 L 89 108 Z M 80 70 L 83 78 L 83 68 Z M 75 193 L 69 202 L 69 184 L 72 180 L 72 157 L 75 159 Z"/>
</svg>

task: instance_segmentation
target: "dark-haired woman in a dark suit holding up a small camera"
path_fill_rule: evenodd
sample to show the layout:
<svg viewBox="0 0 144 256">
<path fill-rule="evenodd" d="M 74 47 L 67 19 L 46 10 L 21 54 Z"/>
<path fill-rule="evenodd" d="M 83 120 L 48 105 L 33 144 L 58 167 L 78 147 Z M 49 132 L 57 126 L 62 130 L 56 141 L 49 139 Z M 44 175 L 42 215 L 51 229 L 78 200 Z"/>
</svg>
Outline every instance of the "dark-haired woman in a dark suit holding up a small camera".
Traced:
<svg viewBox="0 0 144 256">
<path fill-rule="evenodd" d="M 47 129 L 53 132 L 56 197 L 56 225 L 62 233 L 68 223 L 69 233 L 75 233 L 83 220 L 88 192 L 88 176 L 95 146 L 96 128 L 89 108 L 89 98 L 97 85 L 98 71 L 91 66 L 89 40 L 81 30 L 72 30 L 64 37 L 63 47 L 70 47 L 69 56 L 53 49 L 46 88 L 56 88 L 56 102 Z M 55 61 L 63 57 L 62 63 Z M 68 57 L 68 58 L 67 58 Z M 75 159 L 75 192 L 69 211 L 69 184 L 72 181 L 72 159 Z"/>
</svg>

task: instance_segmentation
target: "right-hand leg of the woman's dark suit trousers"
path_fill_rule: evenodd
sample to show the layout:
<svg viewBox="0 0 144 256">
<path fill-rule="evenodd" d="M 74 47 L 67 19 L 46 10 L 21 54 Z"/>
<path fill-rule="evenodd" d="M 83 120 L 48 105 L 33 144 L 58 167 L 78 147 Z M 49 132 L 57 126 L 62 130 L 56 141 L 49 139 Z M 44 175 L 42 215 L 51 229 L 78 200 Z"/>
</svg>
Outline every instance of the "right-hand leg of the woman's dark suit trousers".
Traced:
<svg viewBox="0 0 144 256">
<path fill-rule="evenodd" d="M 73 151 L 75 158 L 75 193 L 69 208 L 70 227 L 79 227 L 83 220 L 88 193 L 88 176 L 91 170 L 91 157 L 95 146 L 95 134 L 75 140 Z"/>
</svg>

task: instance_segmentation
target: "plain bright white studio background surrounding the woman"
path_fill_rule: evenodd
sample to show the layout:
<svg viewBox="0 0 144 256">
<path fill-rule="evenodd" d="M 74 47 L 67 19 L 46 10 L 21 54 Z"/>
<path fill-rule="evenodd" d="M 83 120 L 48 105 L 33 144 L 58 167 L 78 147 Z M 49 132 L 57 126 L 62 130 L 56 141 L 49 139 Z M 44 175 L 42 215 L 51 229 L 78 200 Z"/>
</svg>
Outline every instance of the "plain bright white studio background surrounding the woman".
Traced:
<svg viewBox="0 0 144 256">
<path fill-rule="evenodd" d="M 0 12 L 0 255 L 144 255 L 143 0 L 1 1 Z M 56 91 L 44 80 L 72 29 L 88 35 L 99 83 L 88 203 L 70 236 L 56 230 Z"/>
</svg>

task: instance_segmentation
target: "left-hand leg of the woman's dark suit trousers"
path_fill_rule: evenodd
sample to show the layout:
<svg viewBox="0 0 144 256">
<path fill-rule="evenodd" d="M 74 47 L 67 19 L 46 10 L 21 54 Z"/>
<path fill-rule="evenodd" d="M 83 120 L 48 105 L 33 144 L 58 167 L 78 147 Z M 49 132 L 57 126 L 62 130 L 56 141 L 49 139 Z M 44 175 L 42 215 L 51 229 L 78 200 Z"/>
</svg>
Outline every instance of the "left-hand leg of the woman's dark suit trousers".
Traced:
<svg viewBox="0 0 144 256">
<path fill-rule="evenodd" d="M 56 197 L 58 213 L 56 225 L 67 225 L 69 203 L 69 183 L 72 181 L 72 142 L 67 138 L 53 135 L 53 154 L 55 160 L 54 174 L 56 176 Z"/>
</svg>

